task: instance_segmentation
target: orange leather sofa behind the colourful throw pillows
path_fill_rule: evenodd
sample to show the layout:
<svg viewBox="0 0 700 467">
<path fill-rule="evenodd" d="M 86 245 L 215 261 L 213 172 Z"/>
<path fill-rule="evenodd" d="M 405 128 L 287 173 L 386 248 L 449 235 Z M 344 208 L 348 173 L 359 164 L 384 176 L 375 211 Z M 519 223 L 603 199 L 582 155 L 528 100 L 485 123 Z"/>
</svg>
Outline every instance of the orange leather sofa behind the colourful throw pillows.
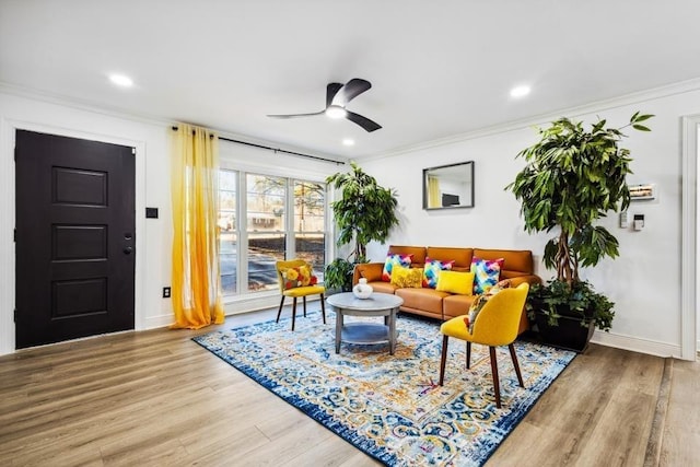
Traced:
<svg viewBox="0 0 700 467">
<path fill-rule="evenodd" d="M 534 273 L 533 253 L 529 250 L 516 249 L 483 249 L 483 248 L 458 248 L 440 246 L 389 246 L 388 253 L 399 255 L 413 255 L 411 267 L 422 268 L 425 258 L 441 261 L 454 261 L 453 271 L 469 271 L 471 258 L 499 259 L 503 258 L 500 279 L 509 279 L 511 287 L 517 287 L 523 282 L 530 284 L 541 283 L 539 276 Z M 404 299 L 401 312 L 429 316 L 441 320 L 447 320 L 455 316 L 466 315 L 469 306 L 475 300 L 475 295 L 456 295 L 450 292 L 441 292 L 435 289 L 400 289 L 390 282 L 382 281 L 384 262 L 365 262 L 357 265 L 354 268 L 353 284 L 360 278 L 365 278 L 372 285 L 374 292 L 392 293 Z M 518 334 L 528 329 L 527 315 L 523 311 Z"/>
</svg>

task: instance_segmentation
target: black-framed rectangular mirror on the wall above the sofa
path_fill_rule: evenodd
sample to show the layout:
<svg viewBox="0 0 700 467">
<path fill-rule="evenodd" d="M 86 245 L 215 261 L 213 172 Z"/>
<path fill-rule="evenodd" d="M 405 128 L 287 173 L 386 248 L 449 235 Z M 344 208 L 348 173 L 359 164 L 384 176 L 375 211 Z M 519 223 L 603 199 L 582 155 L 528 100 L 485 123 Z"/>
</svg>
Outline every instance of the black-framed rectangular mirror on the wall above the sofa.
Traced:
<svg viewBox="0 0 700 467">
<path fill-rule="evenodd" d="M 474 161 L 423 168 L 423 209 L 474 208 Z"/>
</svg>

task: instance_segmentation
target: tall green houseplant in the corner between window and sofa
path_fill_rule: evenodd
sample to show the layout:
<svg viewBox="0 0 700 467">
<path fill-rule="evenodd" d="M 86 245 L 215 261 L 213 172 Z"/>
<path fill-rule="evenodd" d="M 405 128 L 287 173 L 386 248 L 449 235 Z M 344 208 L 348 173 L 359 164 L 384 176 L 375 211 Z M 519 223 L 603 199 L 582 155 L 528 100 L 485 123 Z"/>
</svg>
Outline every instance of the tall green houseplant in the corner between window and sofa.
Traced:
<svg viewBox="0 0 700 467">
<path fill-rule="evenodd" d="M 339 191 L 340 197 L 330 203 L 338 227 L 339 247 L 352 244 L 347 258 L 336 258 L 325 270 L 325 283 L 329 289 L 352 289 L 354 265 L 366 260 L 366 245 L 385 242 L 392 227 L 398 224 L 396 192 L 383 188 L 376 179 L 364 173 L 354 162 L 349 172 L 339 172 L 326 178 L 326 183 Z"/>
</svg>

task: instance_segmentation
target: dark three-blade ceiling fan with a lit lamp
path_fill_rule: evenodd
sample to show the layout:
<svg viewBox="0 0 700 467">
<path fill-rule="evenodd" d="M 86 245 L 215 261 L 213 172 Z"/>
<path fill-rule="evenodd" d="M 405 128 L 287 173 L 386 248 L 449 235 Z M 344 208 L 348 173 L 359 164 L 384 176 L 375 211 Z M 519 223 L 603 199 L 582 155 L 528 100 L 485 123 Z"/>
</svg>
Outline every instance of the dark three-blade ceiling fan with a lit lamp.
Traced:
<svg viewBox="0 0 700 467">
<path fill-rule="evenodd" d="M 347 118 L 348 120 L 358 124 L 366 131 L 378 130 L 380 128 L 382 128 L 381 125 L 346 108 L 346 105 L 348 105 L 350 101 L 368 91 L 370 87 L 372 87 L 372 83 L 360 78 L 353 78 L 346 84 L 328 83 L 328 85 L 326 86 L 325 109 L 320 112 L 314 112 L 312 114 L 268 115 L 268 117 L 296 118 L 326 114 L 330 118 Z"/>
</svg>

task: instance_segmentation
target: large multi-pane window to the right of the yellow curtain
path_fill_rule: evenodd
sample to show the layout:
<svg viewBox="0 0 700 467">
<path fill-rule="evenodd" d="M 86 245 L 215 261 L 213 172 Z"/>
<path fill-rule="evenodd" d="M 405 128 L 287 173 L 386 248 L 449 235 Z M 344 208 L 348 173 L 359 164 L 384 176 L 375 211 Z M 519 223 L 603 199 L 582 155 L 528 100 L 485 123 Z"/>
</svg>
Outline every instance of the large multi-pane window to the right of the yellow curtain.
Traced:
<svg viewBox="0 0 700 467">
<path fill-rule="evenodd" d="M 219 187 L 224 296 L 277 290 L 275 262 L 293 257 L 313 264 L 314 272 L 323 280 L 325 185 L 222 170 Z M 238 211 L 241 215 L 236 215 Z M 291 219 L 288 212 L 293 212 Z M 238 244 L 246 246 L 243 257 L 238 257 Z"/>
</svg>

